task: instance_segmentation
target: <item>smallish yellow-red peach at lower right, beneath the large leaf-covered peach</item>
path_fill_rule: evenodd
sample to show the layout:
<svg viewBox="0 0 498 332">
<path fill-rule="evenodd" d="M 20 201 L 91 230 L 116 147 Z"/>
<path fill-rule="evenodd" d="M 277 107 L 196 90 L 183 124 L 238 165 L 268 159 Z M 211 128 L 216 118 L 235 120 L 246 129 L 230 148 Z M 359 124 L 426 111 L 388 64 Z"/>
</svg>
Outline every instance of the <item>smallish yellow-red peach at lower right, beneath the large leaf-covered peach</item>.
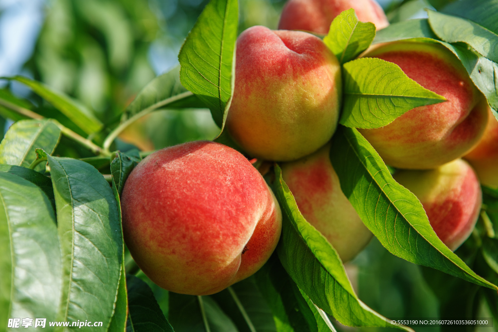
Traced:
<svg viewBox="0 0 498 332">
<path fill-rule="evenodd" d="M 455 251 L 479 218 L 482 193 L 472 167 L 457 159 L 434 170 L 403 170 L 394 179 L 422 203 L 437 236 Z"/>
</svg>

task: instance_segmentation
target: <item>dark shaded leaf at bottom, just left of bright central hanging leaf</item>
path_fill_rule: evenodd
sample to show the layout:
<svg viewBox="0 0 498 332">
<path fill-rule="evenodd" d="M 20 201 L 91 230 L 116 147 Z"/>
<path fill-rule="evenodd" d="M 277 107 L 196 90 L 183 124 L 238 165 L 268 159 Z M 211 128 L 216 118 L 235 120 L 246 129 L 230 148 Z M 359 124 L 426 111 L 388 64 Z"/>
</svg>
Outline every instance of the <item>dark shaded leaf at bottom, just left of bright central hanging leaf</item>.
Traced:
<svg viewBox="0 0 498 332">
<path fill-rule="evenodd" d="M 330 331 L 318 329 L 320 323 L 314 315 L 316 308 L 311 303 L 314 311 L 311 310 L 305 299 L 308 296 L 301 293 L 276 255 L 270 257 L 255 277 L 261 294 L 273 312 L 276 331 Z M 323 322 L 321 317 L 319 320 Z"/>
</svg>

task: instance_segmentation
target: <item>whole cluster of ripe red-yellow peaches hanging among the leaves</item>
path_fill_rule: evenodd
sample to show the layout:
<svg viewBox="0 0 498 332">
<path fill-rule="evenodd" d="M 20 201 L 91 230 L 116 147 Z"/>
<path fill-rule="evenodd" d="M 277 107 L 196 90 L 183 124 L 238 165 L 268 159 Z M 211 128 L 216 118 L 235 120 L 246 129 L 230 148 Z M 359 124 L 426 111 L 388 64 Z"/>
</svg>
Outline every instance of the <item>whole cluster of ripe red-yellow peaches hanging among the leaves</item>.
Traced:
<svg viewBox="0 0 498 332">
<path fill-rule="evenodd" d="M 279 162 L 301 214 L 343 261 L 372 233 L 342 193 L 329 157 L 341 111 L 341 66 L 320 38 L 297 30 L 327 33 L 350 7 L 377 29 L 388 25 L 372 0 L 289 0 L 279 30 L 244 31 L 226 122 L 250 158 Z M 439 44 L 393 42 L 361 56 L 398 65 L 446 99 L 359 130 L 455 250 L 478 219 L 480 180 L 498 187 L 498 122 L 460 61 Z M 256 272 L 275 249 L 282 223 L 275 196 L 249 159 L 210 141 L 146 157 L 125 183 L 122 209 L 124 239 L 143 272 L 167 290 L 194 295 L 216 293 Z"/>
</svg>

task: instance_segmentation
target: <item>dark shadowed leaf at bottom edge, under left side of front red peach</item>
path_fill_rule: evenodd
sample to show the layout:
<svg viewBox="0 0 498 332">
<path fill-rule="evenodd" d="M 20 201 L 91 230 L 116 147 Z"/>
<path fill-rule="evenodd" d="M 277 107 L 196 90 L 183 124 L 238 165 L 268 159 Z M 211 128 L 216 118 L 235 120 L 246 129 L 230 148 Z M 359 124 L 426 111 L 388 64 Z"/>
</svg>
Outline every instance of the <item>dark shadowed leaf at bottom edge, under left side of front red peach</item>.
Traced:
<svg viewBox="0 0 498 332">
<path fill-rule="evenodd" d="M 128 332 L 173 332 L 154 298 L 150 287 L 141 279 L 127 275 L 129 319 Z"/>
</svg>

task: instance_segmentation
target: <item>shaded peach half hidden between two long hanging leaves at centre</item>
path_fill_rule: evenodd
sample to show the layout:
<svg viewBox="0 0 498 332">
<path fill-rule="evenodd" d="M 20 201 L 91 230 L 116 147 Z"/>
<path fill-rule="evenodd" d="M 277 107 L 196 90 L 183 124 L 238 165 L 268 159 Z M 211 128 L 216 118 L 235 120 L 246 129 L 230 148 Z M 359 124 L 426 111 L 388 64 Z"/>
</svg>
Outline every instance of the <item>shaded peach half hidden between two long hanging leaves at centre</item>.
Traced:
<svg viewBox="0 0 498 332">
<path fill-rule="evenodd" d="M 353 259 L 372 238 L 344 196 L 329 157 L 330 144 L 299 160 L 282 163 L 282 178 L 304 218 L 333 245 L 343 262 Z"/>
</svg>

